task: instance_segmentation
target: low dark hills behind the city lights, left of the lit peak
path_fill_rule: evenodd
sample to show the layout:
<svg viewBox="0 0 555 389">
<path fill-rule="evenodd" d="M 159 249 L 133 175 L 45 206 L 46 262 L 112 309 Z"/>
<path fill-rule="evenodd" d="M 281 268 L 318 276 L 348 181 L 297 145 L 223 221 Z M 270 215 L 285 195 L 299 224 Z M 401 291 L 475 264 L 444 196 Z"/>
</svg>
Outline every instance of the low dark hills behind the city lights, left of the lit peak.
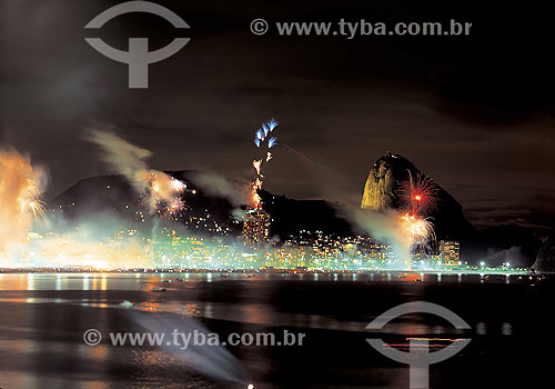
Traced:
<svg viewBox="0 0 555 389">
<path fill-rule="evenodd" d="M 229 229 L 230 235 L 241 231 L 241 222 L 233 215 L 236 208 L 228 199 L 209 194 L 195 183 L 198 171 L 167 171 L 170 176 L 184 181 L 188 191 L 183 194 L 186 209 L 180 215 L 178 223 L 184 225 L 195 233 L 214 232 L 216 226 Z M 194 191 L 194 192 L 193 192 Z M 326 233 L 347 235 L 351 232 L 349 223 L 335 217 L 336 205 L 316 200 L 292 200 L 284 196 L 274 196 L 266 191 L 261 192 L 263 205 L 272 216 L 272 233 L 286 239 L 302 229 L 321 230 Z M 135 227 L 151 228 L 149 216 L 141 206 L 140 196 L 122 176 L 101 176 L 80 180 L 74 186 L 49 201 L 49 208 L 54 213 L 63 213 L 69 220 L 81 220 L 100 212 L 113 212 L 120 218 L 135 223 Z M 142 212 L 142 217 L 138 213 Z M 145 222 L 141 218 L 147 219 Z M 150 217 L 155 218 L 155 217 Z M 198 222 L 198 220 L 203 222 Z M 210 220 L 204 227 L 204 221 Z"/>
</svg>

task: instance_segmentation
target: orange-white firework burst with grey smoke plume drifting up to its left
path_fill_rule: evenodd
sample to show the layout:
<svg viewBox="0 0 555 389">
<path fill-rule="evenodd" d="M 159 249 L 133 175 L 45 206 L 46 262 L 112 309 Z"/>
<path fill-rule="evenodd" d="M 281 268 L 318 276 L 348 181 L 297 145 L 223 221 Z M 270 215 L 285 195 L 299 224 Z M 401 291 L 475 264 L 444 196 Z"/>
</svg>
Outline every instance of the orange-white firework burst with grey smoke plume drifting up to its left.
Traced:
<svg viewBox="0 0 555 389">
<path fill-rule="evenodd" d="M 183 210 L 185 183 L 163 171 L 149 169 L 145 162 L 151 156 L 149 150 L 128 142 L 113 131 L 89 130 L 88 140 L 100 146 L 104 161 L 127 178 L 142 197 L 142 203 L 150 213 L 158 212 L 167 219 L 173 219 Z"/>
</svg>

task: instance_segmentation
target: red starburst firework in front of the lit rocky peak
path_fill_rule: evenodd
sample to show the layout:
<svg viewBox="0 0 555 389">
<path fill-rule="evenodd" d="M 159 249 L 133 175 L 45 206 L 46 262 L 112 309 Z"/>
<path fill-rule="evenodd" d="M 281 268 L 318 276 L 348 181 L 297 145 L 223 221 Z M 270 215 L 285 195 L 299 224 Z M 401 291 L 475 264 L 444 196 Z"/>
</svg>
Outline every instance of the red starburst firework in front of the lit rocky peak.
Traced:
<svg viewBox="0 0 555 389">
<path fill-rule="evenodd" d="M 425 216 L 437 208 L 437 186 L 425 174 L 414 179 L 408 172 L 408 180 L 401 184 L 400 200 L 405 212 Z"/>
</svg>

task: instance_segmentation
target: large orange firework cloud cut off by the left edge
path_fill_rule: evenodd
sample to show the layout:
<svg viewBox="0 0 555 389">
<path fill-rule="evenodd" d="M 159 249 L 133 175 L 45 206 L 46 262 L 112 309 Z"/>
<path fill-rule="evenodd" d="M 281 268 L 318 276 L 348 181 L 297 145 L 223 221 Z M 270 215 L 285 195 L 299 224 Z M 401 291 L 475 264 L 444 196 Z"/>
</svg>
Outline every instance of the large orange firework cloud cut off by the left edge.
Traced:
<svg viewBox="0 0 555 389">
<path fill-rule="evenodd" d="M 43 169 L 14 150 L 0 150 L 0 251 L 27 239 L 33 220 L 44 215 Z"/>
</svg>

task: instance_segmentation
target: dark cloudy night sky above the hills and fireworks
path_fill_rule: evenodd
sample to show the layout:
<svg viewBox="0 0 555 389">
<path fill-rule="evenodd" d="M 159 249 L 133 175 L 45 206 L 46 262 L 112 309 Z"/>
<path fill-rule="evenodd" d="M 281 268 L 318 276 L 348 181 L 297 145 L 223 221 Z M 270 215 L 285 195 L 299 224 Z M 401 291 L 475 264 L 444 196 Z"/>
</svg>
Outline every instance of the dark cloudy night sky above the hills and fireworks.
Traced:
<svg viewBox="0 0 555 389">
<path fill-rule="evenodd" d="M 526 2 L 158 1 L 190 30 L 129 14 L 83 26 L 119 1 L 0 0 L 0 140 L 50 173 L 47 198 L 111 171 L 83 130 L 113 124 L 150 149 L 152 168 L 252 173 L 253 132 L 270 118 L 276 147 L 265 188 L 359 205 L 374 160 L 408 158 L 478 228 L 555 220 L 552 12 Z M 522 7 L 522 6 L 521 6 Z M 251 20 L 470 21 L 470 37 L 253 36 Z M 84 42 L 127 49 L 191 37 L 130 90 L 125 64 Z"/>
</svg>

